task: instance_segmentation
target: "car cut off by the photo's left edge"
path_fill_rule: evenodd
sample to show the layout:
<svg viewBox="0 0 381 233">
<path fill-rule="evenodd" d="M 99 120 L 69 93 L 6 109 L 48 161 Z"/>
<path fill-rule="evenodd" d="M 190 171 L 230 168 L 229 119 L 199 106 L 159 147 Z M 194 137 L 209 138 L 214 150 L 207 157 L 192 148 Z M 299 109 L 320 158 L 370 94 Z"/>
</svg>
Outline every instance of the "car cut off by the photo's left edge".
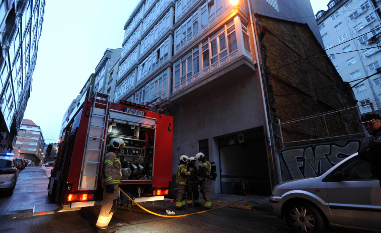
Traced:
<svg viewBox="0 0 381 233">
<path fill-rule="evenodd" d="M 14 157 L 0 156 L 0 190 L 12 195 L 19 177 L 17 162 Z"/>
</svg>

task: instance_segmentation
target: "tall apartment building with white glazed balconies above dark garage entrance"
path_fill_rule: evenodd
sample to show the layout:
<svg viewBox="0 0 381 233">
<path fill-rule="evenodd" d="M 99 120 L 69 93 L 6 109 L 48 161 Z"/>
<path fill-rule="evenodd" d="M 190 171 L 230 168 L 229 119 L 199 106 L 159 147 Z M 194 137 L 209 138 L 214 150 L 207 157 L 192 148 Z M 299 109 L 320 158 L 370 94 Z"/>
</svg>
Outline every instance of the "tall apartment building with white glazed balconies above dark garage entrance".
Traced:
<svg viewBox="0 0 381 233">
<path fill-rule="evenodd" d="M 258 12 L 261 16 L 254 15 Z M 304 43 L 312 43 L 311 48 L 322 51 L 322 40 L 314 37 L 319 31 L 316 21 L 311 20 L 313 11 L 306 1 L 262 0 L 254 4 L 242 0 L 142 0 L 127 20 L 115 102 L 147 104 L 152 110 L 174 117 L 174 174 L 182 154 L 190 157 L 201 151 L 210 161 L 217 162 L 219 178 L 213 182 L 212 192 L 232 193 L 234 177 L 245 177 L 258 192 L 267 194 L 279 182 L 279 161 L 269 122 L 270 117 L 275 119 L 276 116 L 268 115 L 268 103 L 273 98 L 267 99 L 269 80 L 261 76 L 264 72 L 261 69 L 266 66 L 262 59 L 267 54 L 258 54 L 261 50 L 258 46 L 264 49 L 266 45 L 257 43 L 259 34 L 255 33 L 261 25 L 260 17 L 274 15 L 293 21 L 295 32 L 302 27 L 308 33 L 306 38 L 313 38 Z M 312 17 L 302 17 L 306 15 Z M 278 30 L 277 23 L 267 22 L 266 27 Z M 282 40 L 282 36 L 277 39 Z M 262 41 L 275 50 L 292 46 L 292 43 Z M 284 48 L 280 44 L 285 45 Z M 283 58 L 276 57 L 278 55 L 272 58 Z M 304 74 L 297 68 L 291 71 L 295 75 L 287 78 L 303 79 L 300 75 Z M 283 75 L 277 71 L 270 74 Z M 307 81 L 296 88 L 322 84 L 310 77 L 304 80 Z M 336 82 L 326 75 L 323 80 L 328 84 Z M 283 81 L 279 85 L 286 86 Z M 321 95 L 311 98 L 314 103 Z M 334 95 L 332 98 L 338 99 Z M 303 105 L 303 101 L 306 99 L 290 106 Z M 324 102 L 321 109 L 334 108 L 330 101 Z M 337 101 L 331 102 L 335 107 L 340 106 Z M 298 114 L 316 113 L 311 109 L 316 108 L 310 107 Z"/>
</svg>

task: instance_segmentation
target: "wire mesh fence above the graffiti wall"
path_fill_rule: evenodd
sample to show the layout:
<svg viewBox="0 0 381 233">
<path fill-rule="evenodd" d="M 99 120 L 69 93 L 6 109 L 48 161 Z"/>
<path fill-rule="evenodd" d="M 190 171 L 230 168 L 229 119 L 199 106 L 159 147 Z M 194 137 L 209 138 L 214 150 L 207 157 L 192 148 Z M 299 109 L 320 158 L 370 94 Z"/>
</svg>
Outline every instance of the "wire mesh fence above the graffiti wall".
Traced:
<svg viewBox="0 0 381 233">
<path fill-rule="evenodd" d="M 359 104 L 299 119 L 278 122 L 278 143 L 281 148 L 365 137 L 359 124 L 366 113 L 381 113 L 380 100 L 360 101 Z"/>
</svg>

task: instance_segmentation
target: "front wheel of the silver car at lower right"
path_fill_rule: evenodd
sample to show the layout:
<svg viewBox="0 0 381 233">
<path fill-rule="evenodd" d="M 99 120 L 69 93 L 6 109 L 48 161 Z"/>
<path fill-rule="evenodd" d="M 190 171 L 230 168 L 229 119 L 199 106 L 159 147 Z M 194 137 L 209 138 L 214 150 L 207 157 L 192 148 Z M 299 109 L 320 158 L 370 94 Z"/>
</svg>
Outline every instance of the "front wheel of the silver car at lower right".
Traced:
<svg viewBox="0 0 381 233">
<path fill-rule="evenodd" d="M 292 203 L 286 209 L 286 223 L 297 233 L 318 233 L 324 229 L 320 212 L 307 202 Z"/>
</svg>

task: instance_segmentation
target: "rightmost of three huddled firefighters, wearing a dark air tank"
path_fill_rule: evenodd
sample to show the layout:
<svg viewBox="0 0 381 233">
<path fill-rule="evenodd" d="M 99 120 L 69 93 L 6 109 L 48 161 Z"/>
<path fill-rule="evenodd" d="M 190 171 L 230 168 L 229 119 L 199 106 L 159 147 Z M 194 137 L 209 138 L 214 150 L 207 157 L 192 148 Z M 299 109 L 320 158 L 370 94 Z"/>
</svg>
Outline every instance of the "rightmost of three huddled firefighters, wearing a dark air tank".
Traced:
<svg viewBox="0 0 381 233">
<path fill-rule="evenodd" d="M 201 190 L 202 196 L 205 200 L 205 205 L 202 207 L 202 209 L 211 209 L 212 208 L 212 200 L 210 198 L 210 185 L 212 183 L 211 180 L 211 165 L 210 162 L 206 159 L 205 154 L 202 152 L 198 152 L 195 156 L 196 159 L 198 159 L 198 168 L 201 171 L 200 172 L 200 183 L 201 183 Z"/>
</svg>

